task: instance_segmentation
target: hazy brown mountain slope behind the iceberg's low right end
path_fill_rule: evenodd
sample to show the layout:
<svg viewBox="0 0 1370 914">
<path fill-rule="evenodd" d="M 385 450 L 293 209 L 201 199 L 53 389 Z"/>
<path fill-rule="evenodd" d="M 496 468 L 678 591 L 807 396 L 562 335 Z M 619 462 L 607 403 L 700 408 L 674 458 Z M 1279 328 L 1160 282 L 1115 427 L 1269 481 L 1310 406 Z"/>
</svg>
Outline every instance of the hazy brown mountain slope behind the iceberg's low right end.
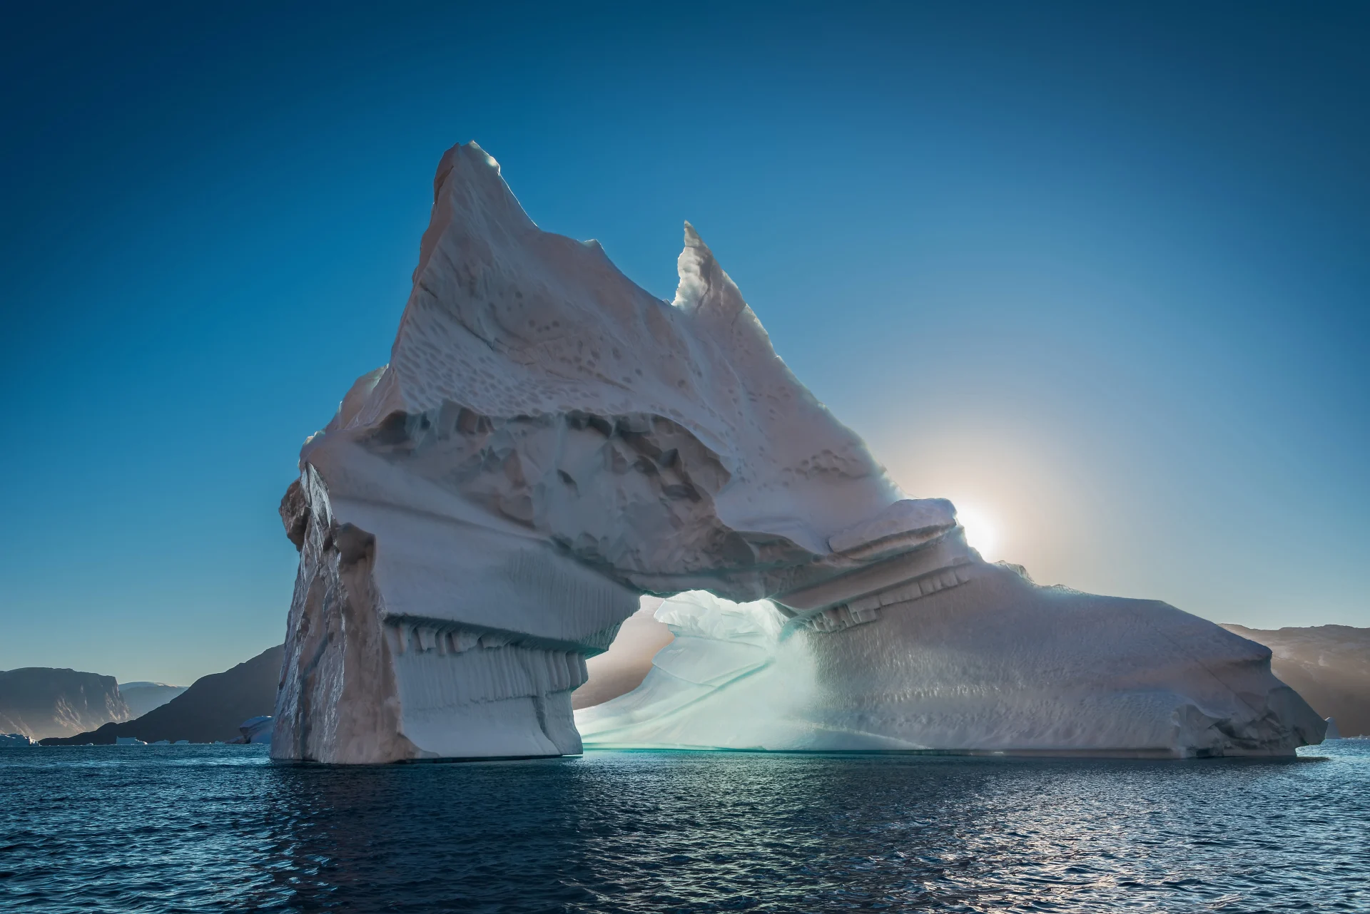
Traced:
<svg viewBox="0 0 1370 914">
<path fill-rule="evenodd" d="M 1370 628 L 1223 628 L 1269 647 L 1274 675 L 1343 736 L 1370 735 Z"/>
</svg>

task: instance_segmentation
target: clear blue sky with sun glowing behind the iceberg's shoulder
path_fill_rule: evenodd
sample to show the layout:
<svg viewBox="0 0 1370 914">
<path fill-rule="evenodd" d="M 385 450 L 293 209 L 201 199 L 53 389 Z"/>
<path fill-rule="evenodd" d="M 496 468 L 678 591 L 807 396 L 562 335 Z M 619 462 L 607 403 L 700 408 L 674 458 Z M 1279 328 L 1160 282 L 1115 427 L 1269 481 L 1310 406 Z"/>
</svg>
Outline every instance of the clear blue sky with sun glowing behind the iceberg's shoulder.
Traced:
<svg viewBox="0 0 1370 914">
<path fill-rule="evenodd" d="M 662 298 L 689 219 L 988 558 L 1370 625 L 1370 5 L 585 5 L 7 10 L 0 669 L 284 640 L 277 505 L 470 140 Z"/>
</svg>

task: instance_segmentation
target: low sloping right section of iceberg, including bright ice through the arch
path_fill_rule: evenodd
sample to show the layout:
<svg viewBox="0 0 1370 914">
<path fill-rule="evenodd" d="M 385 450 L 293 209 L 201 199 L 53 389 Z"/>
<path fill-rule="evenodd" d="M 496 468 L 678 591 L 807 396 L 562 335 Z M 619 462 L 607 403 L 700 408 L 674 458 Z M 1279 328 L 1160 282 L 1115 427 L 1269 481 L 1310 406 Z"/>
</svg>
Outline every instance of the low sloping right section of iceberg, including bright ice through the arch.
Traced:
<svg viewBox="0 0 1370 914">
<path fill-rule="evenodd" d="M 647 679 L 575 725 L 586 748 L 1192 758 L 1322 739 L 1255 642 L 1156 601 L 958 573 L 833 632 L 767 601 L 667 599 L 675 639 Z"/>
</svg>

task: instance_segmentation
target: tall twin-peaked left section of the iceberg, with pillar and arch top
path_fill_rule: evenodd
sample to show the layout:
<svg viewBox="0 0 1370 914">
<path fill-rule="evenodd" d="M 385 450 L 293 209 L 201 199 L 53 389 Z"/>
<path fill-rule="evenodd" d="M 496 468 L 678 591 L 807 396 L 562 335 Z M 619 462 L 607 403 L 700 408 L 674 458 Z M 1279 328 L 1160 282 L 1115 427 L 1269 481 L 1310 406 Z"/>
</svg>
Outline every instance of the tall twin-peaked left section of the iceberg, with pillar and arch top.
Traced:
<svg viewBox="0 0 1370 914">
<path fill-rule="evenodd" d="M 643 592 L 771 598 L 822 646 L 815 681 L 875 709 L 899 691 L 838 675 L 862 664 L 843 646 L 897 655 L 901 608 L 986 566 L 949 502 L 903 498 L 789 372 L 689 226 L 678 272 L 653 298 L 540 231 L 477 145 L 448 151 L 390 363 L 282 499 L 300 572 L 275 757 L 580 751 L 570 694 Z"/>
</svg>

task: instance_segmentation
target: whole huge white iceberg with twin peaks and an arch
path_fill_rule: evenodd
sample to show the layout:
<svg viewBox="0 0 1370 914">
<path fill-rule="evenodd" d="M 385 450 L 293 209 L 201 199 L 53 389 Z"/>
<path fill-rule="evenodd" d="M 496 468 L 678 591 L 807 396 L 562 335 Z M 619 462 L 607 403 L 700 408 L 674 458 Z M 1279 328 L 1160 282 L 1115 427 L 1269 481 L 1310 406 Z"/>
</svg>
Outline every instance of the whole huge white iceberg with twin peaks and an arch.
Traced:
<svg viewBox="0 0 1370 914">
<path fill-rule="evenodd" d="M 596 242 L 538 230 L 480 146 L 447 152 L 390 363 L 306 442 L 281 504 L 300 571 L 274 757 L 577 753 L 585 658 L 641 594 L 692 590 L 778 610 L 710 605 L 686 624 L 673 603 L 704 632 L 682 664 L 715 673 L 690 684 L 755 707 L 726 739 L 678 744 L 790 747 L 792 728 L 763 718 L 804 695 L 793 714 L 830 748 L 1011 743 L 1028 718 L 1056 744 L 1149 748 L 1162 711 L 1129 701 L 1158 699 L 1110 691 L 1129 664 L 1138 695 L 1170 688 L 1174 707 L 1226 721 L 1212 739 L 1184 724 L 1177 751 L 1292 751 L 1321 735 L 1269 651 L 981 562 L 949 502 L 904 498 L 789 372 L 688 224 L 678 272 L 674 301 L 653 298 Z M 932 606 L 945 612 L 929 621 Z M 1197 684 L 1228 666 L 1245 677 Z M 737 692 L 723 679 L 744 668 L 754 684 Z M 1075 691 L 1034 686 L 1058 675 Z M 934 680 L 927 703 L 918 683 Z M 1238 686 L 1249 713 L 1228 714 Z M 1085 732 L 1107 714 L 1103 735 Z"/>
</svg>

